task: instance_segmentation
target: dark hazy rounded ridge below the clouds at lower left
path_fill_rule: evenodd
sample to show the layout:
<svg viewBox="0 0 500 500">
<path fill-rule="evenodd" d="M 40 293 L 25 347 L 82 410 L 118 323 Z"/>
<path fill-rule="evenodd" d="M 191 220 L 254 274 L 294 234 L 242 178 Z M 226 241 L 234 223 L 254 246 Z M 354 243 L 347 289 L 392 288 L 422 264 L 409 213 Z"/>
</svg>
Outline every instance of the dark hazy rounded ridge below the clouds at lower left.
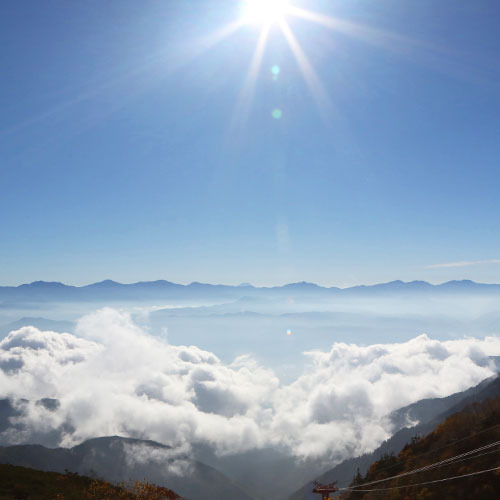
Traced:
<svg viewBox="0 0 500 500">
<path fill-rule="evenodd" d="M 254 500 L 224 474 L 171 447 L 122 437 L 91 439 L 73 448 L 0 447 L 0 463 L 98 476 L 107 481 L 143 480 L 190 500 Z"/>
</svg>

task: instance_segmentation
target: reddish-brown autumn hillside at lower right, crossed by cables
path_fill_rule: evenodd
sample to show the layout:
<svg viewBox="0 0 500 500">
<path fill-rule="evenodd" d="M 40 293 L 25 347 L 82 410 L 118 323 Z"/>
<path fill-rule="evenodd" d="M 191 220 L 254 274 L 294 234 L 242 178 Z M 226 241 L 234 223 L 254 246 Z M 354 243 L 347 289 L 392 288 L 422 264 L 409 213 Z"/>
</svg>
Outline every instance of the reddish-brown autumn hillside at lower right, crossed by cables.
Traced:
<svg viewBox="0 0 500 500">
<path fill-rule="evenodd" d="M 345 500 L 496 500 L 500 495 L 500 397 L 468 406 L 399 455 L 357 474 Z"/>
</svg>

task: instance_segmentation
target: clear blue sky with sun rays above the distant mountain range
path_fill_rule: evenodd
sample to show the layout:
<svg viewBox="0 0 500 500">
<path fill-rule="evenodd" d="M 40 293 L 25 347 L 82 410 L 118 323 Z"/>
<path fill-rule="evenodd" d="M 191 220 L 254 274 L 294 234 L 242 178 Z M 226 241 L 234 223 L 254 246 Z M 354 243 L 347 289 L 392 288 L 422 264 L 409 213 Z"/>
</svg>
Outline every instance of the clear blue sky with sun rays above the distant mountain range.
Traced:
<svg viewBox="0 0 500 500">
<path fill-rule="evenodd" d="M 291 4 L 4 0 L 0 284 L 500 282 L 500 2 Z"/>
</svg>

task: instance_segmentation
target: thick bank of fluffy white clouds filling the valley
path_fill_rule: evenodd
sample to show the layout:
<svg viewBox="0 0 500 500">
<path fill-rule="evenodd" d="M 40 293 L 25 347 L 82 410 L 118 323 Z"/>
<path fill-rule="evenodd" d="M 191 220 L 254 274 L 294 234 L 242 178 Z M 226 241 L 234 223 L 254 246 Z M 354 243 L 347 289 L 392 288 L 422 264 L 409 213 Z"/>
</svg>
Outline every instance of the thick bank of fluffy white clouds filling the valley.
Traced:
<svg viewBox="0 0 500 500">
<path fill-rule="evenodd" d="M 84 316 L 74 335 L 24 327 L 0 341 L 0 399 L 19 412 L 1 444 L 121 435 L 182 449 L 204 443 L 220 454 L 278 446 L 302 458 L 357 455 L 390 435 L 391 411 L 493 375 L 500 338 L 421 335 L 305 355 L 304 373 L 283 384 L 249 356 L 224 364 L 110 308 Z"/>
</svg>

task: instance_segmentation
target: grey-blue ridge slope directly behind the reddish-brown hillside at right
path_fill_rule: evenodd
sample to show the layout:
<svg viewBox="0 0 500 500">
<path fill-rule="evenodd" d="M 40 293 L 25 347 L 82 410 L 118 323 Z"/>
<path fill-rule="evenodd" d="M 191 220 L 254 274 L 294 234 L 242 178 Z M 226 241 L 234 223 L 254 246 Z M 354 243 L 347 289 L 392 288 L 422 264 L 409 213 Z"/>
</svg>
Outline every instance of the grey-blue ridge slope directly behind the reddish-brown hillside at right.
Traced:
<svg viewBox="0 0 500 500">
<path fill-rule="evenodd" d="M 390 416 L 394 419 L 395 423 L 401 422 L 402 419 L 404 420 L 408 413 L 414 417 L 420 416 L 422 419 L 427 418 L 428 420 L 422 420 L 414 427 L 400 429 L 372 453 L 344 460 L 333 469 L 321 474 L 317 480 L 324 484 L 339 481 L 341 486 L 347 486 L 358 469 L 361 474 L 364 474 L 370 464 L 378 460 L 381 456 L 399 453 L 413 437 L 427 435 L 448 416 L 463 410 L 467 405 L 482 402 L 498 395 L 500 395 L 500 377 L 495 376 L 464 392 L 452 394 L 446 398 L 424 399 L 397 410 Z M 431 408 L 432 402 L 434 402 L 435 408 Z M 440 412 L 437 413 L 439 410 Z M 317 495 L 312 493 L 312 488 L 313 483 L 310 481 L 290 495 L 288 500 L 315 500 Z"/>
</svg>

